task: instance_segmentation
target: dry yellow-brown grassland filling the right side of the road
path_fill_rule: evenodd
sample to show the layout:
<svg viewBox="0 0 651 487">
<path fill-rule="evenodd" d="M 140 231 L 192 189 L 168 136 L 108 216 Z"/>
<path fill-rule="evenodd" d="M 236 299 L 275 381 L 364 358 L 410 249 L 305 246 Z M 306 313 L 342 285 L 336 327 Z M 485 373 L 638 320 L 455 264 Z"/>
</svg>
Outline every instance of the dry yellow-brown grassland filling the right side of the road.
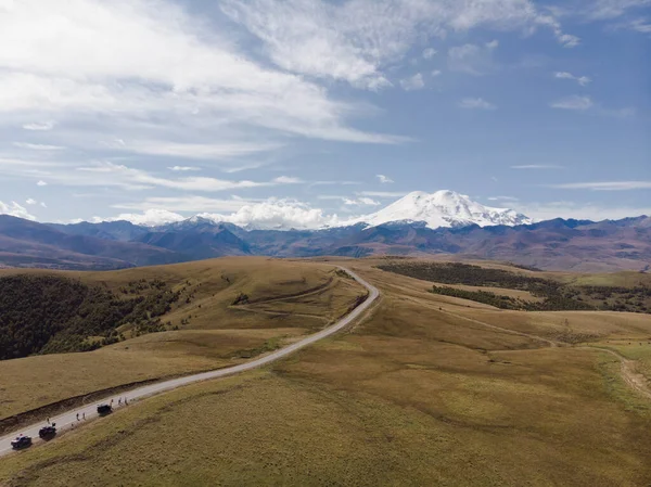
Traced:
<svg viewBox="0 0 651 487">
<path fill-rule="evenodd" d="M 624 338 L 651 330 L 648 317 L 495 311 L 372 264 L 347 261 L 383 293 L 348 333 L 4 459 L 0 483 L 651 483 L 651 406 L 622 381 L 618 360 L 512 333 L 556 339 L 570 316 L 578 332 L 642 363 L 647 349 Z"/>
</svg>

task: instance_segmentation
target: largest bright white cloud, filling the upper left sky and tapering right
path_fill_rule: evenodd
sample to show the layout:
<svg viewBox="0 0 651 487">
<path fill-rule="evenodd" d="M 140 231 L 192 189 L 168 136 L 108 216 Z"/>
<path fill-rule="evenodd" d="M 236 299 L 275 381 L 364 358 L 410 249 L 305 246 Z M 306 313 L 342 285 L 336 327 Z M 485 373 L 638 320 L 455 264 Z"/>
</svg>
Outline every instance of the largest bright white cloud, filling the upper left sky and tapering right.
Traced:
<svg viewBox="0 0 651 487">
<path fill-rule="evenodd" d="M 0 46 L 14 47 L 0 50 L 0 112 L 31 119 L 55 116 L 67 126 L 74 120 L 81 133 L 79 121 L 92 117 L 106 126 L 105 132 L 127 121 L 155 119 L 140 126 L 191 136 L 195 126 L 217 127 L 228 120 L 233 129 L 398 141 L 348 127 L 345 117 L 365 108 L 332 100 L 324 88 L 303 77 L 247 60 L 222 30 L 207 31 L 206 23 L 171 2 L 54 3 L 22 0 L 0 16 Z M 200 146 L 215 134 L 202 136 Z"/>
</svg>

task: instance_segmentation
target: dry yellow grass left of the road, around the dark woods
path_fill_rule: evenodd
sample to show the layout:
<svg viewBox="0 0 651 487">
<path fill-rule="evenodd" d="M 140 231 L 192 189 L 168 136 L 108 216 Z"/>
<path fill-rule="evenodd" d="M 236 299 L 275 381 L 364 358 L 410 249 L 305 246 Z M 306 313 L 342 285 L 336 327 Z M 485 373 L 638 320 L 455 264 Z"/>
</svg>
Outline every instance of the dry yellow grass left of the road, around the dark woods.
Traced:
<svg viewBox="0 0 651 487">
<path fill-rule="evenodd" d="M 10 272 L 15 270 L 3 271 Z M 191 303 L 180 299 L 163 321 L 180 324 L 186 319 L 188 324 L 91 353 L 0 361 L 0 419 L 123 384 L 235 364 L 264 351 L 269 341 L 280 346 L 323 328 L 363 293 L 332 266 L 266 258 L 62 274 L 114 291 L 140 279 L 184 287 Z M 263 303 L 230 306 L 240 293 Z"/>
</svg>

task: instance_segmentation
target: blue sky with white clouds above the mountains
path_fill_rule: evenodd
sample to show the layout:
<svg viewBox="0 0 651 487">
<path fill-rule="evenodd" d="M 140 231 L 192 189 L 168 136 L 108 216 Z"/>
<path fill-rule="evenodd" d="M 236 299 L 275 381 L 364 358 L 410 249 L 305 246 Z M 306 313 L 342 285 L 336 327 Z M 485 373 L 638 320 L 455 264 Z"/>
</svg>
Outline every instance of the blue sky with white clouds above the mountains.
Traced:
<svg viewBox="0 0 651 487">
<path fill-rule="evenodd" d="M 0 213 L 651 215 L 651 0 L 0 0 Z"/>
</svg>

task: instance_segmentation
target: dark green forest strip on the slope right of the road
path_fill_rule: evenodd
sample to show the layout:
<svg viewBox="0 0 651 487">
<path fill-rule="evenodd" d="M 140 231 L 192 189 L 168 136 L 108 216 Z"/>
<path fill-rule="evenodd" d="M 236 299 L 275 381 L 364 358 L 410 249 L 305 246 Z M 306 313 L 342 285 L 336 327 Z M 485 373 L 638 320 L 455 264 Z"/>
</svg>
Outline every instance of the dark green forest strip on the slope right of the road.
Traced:
<svg viewBox="0 0 651 487">
<path fill-rule="evenodd" d="M 448 284 L 447 286 L 435 285 L 431 292 L 484 303 L 501 309 L 607 310 L 651 313 L 651 286 L 570 285 L 552 279 L 461 262 L 394 261 L 383 264 L 378 268 L 423 281 Z M 450 287 L 449 284 L 525 291 L 533 296 L 542 298 L 542 302 L 515 299 L 482 290 L 457 290 Z"/>
</svg>

